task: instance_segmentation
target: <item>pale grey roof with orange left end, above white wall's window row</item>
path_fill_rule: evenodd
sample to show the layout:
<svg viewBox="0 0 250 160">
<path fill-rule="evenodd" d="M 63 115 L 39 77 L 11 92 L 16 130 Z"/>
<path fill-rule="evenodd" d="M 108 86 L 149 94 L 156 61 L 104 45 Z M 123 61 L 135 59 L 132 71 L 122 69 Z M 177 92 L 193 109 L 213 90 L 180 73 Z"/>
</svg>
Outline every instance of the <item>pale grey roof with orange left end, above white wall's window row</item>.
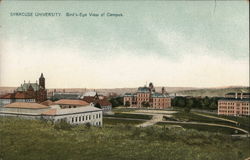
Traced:
<svg viewBox="0 0 250 160">
<path fill-rule="evenodd" d="M 51 109 L 49 111 L 43 112 L 42 115 L 65 115 L 65 114 L 94 112 L 94 111 L 102 111 L 102 110 L 92 106 L 84 106 L 78 108 Z"/>
</svg>

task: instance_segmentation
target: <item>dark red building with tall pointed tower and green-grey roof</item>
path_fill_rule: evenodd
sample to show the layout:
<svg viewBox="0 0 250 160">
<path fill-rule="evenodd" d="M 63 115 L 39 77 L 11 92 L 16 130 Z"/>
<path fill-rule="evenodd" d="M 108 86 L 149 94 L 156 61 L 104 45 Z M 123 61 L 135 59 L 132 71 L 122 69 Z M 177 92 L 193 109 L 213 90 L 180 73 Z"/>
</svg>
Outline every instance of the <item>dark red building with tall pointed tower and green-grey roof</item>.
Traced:
<svg viewBox="0 0 250 160">
<path fill-rule="evenodd" d="M 13 102 L 37 102 L 41 103 L 47 100 L 47 90 L 45 88 L 45 78 L 43 73 L 39 78 L 39 83 L 26 83 L 14 90 L 14 93 L 8 93 L 0 97 L 0 106 Z"/>
</svg>

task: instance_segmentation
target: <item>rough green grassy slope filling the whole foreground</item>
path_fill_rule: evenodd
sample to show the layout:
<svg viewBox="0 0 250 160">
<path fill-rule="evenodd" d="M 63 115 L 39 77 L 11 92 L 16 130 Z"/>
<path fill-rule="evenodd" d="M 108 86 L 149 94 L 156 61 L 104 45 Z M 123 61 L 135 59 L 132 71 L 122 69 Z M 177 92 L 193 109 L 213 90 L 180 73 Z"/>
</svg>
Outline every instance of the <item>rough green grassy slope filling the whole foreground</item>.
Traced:
<svg viewBox="0 0 250 160">
<path fill-rule="evenodd" d="M 0 124 L 3 160 L 243 160 L 250 156 L 249 139 L 189 129 L 105 124 L 62 130 L 50 122 L 3 117 Z"/>
</svg>

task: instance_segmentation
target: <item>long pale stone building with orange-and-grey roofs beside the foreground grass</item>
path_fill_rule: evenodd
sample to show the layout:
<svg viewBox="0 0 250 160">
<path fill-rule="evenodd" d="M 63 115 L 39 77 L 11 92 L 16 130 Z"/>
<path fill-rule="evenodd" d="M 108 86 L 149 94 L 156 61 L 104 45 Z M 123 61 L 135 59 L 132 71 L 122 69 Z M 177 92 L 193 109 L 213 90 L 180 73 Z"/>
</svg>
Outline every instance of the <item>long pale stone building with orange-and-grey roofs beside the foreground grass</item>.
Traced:
<svg viewBox="0 0 250 160">
<path fill-rule="evenodd" d="M 102 126 L 102 110 L 92 105 L 77 108 L 61 108 L 38 103 L 14 102 L 0 108 L 0 116 L 25 119 L 47 119 L 53 122 L 66 121 L 70 124 Z"/>
</svg>

